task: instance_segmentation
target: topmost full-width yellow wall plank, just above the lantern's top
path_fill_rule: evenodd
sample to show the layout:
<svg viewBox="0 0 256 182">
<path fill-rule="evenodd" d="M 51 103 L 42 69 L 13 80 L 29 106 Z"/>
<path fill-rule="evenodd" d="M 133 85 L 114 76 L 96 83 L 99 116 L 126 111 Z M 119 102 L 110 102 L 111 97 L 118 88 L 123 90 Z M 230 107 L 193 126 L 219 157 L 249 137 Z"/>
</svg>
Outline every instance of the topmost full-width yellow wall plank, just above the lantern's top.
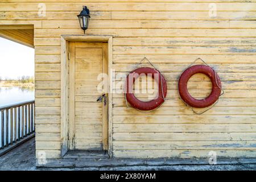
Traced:
<svg viewBox="0 0 256 182">
<path fill-rule="evenodd" d="M 45 3 L 47 11 L 77 11 L 83 3 Z M 156 6 L 157 5 L 157 6 Z M 86 3 L 92 11 L 209 11 L 209 3 Z M 255 11 L 256 3 L 216 3 L 218 11 Z M 36 11 L 38 3 L 0 3 L 0 11 Z"/>
</svg>

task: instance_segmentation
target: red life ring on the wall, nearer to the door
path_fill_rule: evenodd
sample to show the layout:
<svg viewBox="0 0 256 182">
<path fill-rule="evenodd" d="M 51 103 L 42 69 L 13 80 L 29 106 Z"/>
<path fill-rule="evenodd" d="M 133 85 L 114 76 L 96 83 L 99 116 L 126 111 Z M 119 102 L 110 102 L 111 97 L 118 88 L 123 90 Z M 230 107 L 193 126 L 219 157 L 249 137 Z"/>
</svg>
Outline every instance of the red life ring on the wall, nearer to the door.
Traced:
<svg viewBox="0 0 256 182">
<path fill-rule="evenodd" d="M 132 74 L 132 75 L 131 75 Z M 148 101 L 148 102 L 143 102 L 141 100 L 138 100 L 138 98 L 136 98 L 133 94 L 133 84 L 135 82 L 135 80 L 141 76 L 141 74 L 143 75 L 148 75 L 151 74 L 152 78 L 155 78 L 155 74 L 158 75 L 158 79 L 155 79 L 155 81 L 158 82 L 158 97 L 154 100 Z M 133 81 L 130 81 L 129 84 L 129 77 L 133 79 Z M 162 77 L 161 81 L 160 78 Z M 138 68 L 135 69 L 134 71 L 130 72 L 129 75 L 126 77 L 126 81 L 125 81 L 125 97 L 126 100 L 130 103 L 131 106 L 133 106 L 136 109 L 139 110 L 152 110 L 152 109 L 156 109 L 157 107 L 159 107 L 161 104 L 163 104 L 164 98 L 166 98 L 166 94 L 167 94 L 167 84 L 166 84 L 166 80 L 164 79 L 163 75 L 156 69 L 153 68 L 148 68 L 148 67 L 142 67 L 142 68 Z M 163 88 L 160 89 L 160 88 Z M 129 92 L 130 91 L 130 92 Z"/>
</svg>

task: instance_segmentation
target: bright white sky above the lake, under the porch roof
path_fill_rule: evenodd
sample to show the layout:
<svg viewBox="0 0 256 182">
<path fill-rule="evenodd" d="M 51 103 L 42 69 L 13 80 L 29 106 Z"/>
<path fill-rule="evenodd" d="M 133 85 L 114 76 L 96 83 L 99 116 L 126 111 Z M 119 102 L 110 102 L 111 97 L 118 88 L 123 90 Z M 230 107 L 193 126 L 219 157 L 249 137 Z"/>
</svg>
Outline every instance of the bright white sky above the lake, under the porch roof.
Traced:
<svg viewBox="0 0 256 182">
<path fill-rule="evenodd" d="M 0 38 L 0 77 L 34 76 L 34 48 Z"/>
</svg>

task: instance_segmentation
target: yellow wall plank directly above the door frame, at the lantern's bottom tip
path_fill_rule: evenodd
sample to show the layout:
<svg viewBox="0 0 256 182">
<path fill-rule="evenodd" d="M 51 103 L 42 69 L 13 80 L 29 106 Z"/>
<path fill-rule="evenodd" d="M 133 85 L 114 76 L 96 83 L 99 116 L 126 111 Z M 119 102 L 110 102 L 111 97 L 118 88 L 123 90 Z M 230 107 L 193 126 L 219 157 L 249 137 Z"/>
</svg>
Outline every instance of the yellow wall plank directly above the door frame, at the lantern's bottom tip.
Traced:
<svg viewBox="0 0 256 182">
<path fill-rule="evenodd" d="M 184 14 L 184 13 L 183 13 Z M 48 37 L 59 37 L 60 35 L 68 35 L 72 32 L 73 34 L 81 34 L 81 28 L 77 29 L 35 29 L 36 38 L 48 38 Z M 233 29 L 227 28 L 225 31 L 221 29 L 88 29 L 87 34 L 103 34 L 103 35 L 113 35 L 115 37 L 240 37 L 240 38 L 255 38 L 256 30 L 255 29 Z M 53 46 L 52 46 L 53 47 Z M 53 47 L 54 48 L 54 47 Z M 59 51 L 49 52 L 49 48 L 42 47 L 42 51 L 39 53 L 59 53 Z M 47 51 L 48 50 L 48 51 Z"/>
</svg>

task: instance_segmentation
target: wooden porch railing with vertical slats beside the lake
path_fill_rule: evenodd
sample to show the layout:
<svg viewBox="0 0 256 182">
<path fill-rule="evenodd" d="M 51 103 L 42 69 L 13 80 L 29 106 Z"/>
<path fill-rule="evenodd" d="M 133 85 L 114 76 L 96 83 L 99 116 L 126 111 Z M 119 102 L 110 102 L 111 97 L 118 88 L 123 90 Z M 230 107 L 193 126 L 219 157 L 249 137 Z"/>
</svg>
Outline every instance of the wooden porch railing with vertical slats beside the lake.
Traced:
<svg viewBox="0 0 256 182">
<path fill-rule="evenodd" d="M 0 107 L 0 153 L 35 132 L 35 101 Z"/>
</svg>

